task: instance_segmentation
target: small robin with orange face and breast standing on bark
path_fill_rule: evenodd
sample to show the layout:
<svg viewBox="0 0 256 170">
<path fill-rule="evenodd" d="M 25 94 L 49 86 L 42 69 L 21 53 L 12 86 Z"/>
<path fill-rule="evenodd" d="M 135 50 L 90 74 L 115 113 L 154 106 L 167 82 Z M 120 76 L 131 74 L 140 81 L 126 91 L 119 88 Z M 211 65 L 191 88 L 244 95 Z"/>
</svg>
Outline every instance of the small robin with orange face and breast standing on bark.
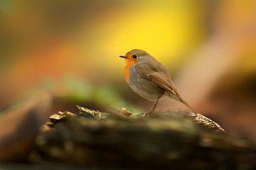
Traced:
<svg viewBox="0 0 256 170">
<path fill-rule="evenodd" d="M 164 96 L 180 101 L 193 111 L 178 93 L 164 65 L 149 53 L 134 49 L 119 57 L 124 58 L 127 63 L 124 67 L 124 77 L 132 90 L 139 96 L 154 101 L 149 113 L 154 113 L 159 99 Z"/>
</svg>

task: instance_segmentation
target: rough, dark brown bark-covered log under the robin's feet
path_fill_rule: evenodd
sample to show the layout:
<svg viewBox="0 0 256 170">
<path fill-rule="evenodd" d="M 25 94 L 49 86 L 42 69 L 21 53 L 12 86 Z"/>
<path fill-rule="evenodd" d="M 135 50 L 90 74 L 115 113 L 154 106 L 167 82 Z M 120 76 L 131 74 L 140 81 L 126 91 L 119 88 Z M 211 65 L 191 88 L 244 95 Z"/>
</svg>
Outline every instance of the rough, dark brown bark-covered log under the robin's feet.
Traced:
<svg viewBox="0 0 256 170">
<path fill-rule="evenodd" d="M 230 137 L 200 114 L 126 116 L 80 106 L 78 110 L 50 116 L 37 139 L 33 162 L 138 169 L 255 168 L 255 145 Z"/>
</svg>

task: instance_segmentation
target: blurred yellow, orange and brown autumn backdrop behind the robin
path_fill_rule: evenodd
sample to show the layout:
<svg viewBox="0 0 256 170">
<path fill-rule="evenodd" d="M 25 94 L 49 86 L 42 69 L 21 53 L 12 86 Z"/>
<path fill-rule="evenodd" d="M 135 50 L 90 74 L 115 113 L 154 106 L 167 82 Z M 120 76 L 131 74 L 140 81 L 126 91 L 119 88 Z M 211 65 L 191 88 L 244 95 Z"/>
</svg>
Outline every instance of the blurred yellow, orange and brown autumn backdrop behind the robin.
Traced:
<svg viewBox="0 0 256 170">
<path fill-rule="evenodd" d="M 148 111 L 124 81 L 146 50 L 183 94 L 231 135 L 256 141 L 256 1 L 1 0 L 0 111 L 41 91 L 75 104 Z M 158 110 L 184 109 L 164 99 Z"/>
</svg>

